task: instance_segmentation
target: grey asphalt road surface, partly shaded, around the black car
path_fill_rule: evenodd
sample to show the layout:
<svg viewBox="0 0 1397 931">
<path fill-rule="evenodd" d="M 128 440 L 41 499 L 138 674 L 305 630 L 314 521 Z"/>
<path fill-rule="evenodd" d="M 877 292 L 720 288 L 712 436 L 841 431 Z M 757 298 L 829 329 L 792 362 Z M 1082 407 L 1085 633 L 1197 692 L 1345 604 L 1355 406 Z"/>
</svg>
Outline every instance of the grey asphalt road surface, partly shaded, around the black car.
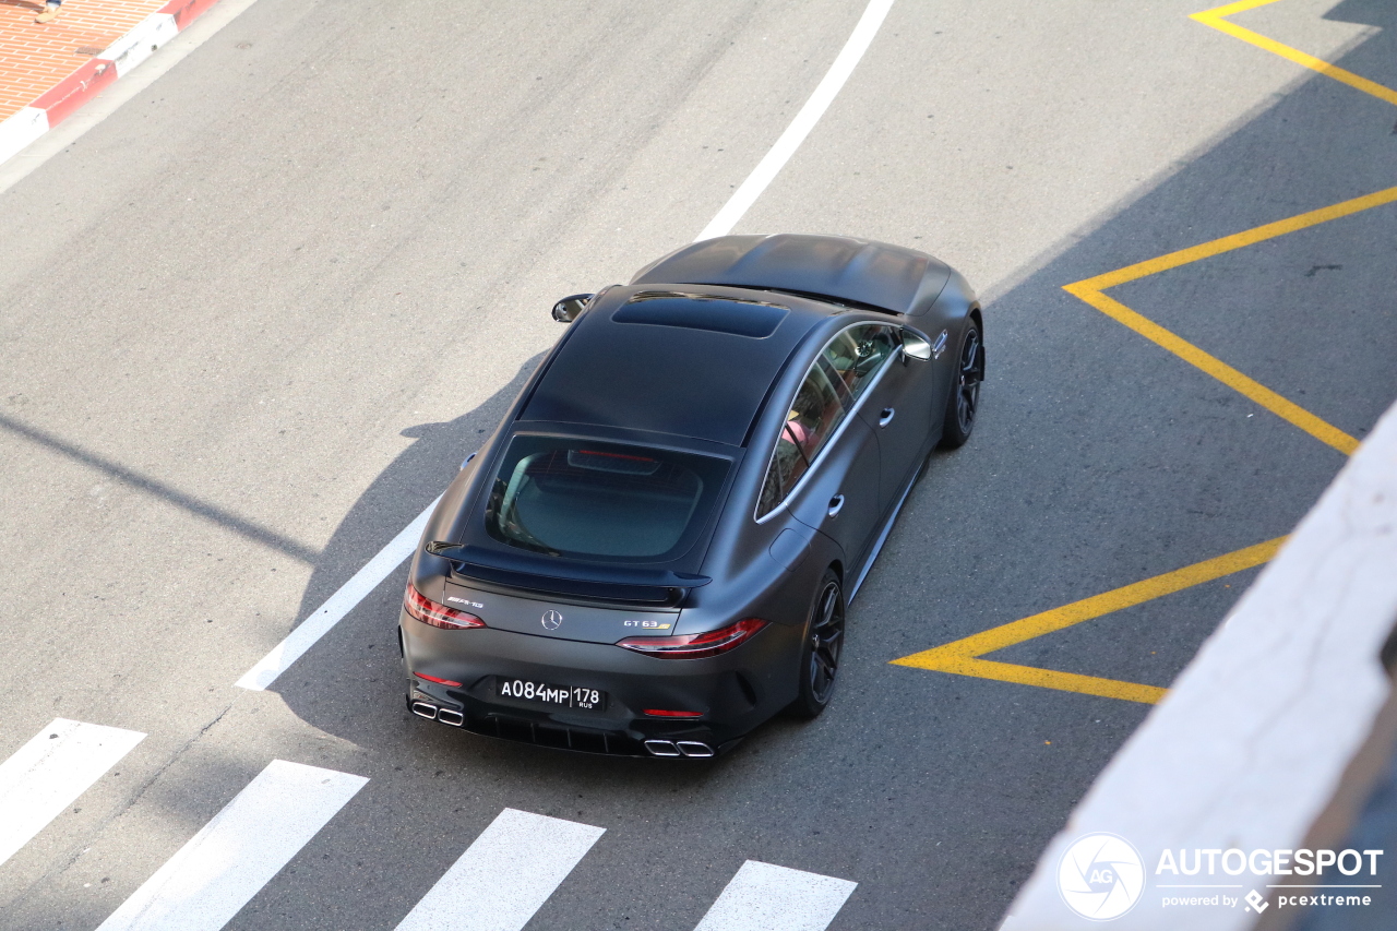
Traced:
<svg viewBox="0 0 1397 931">
<path fill-rule="evenodd" d="M 0 927 L 96 928 L 274 759 L 369 781 L 237 931 L 393 928 L 504 808 L 606 829 L 529 928 L 693 928 L 747 860 L 858 882 L 834 930 L 995 927 L 1148 706 L 888 661 L 1285 534 L 1344 463 L 1062 289 L 1397 179 L 1390 103 L 1201 6 L 898 0 L 738 224 L 949 261 L 989 382 L 831 710 L 707 765 L 411 717 L 402 569 L 233 682 L 444 488 L 557 296 L 705 226 L 862 3 L 258 0 L 0 194 L 0 759 L 54 717 L 148 735 L 0 865 Z M 1235 20 L 1397 87 L 1386 0 Z M 1394 211 L 1112 294 L 1361 439 Z M 993 658 L 1166 686 L 1250 575 Z"/>
</svg>

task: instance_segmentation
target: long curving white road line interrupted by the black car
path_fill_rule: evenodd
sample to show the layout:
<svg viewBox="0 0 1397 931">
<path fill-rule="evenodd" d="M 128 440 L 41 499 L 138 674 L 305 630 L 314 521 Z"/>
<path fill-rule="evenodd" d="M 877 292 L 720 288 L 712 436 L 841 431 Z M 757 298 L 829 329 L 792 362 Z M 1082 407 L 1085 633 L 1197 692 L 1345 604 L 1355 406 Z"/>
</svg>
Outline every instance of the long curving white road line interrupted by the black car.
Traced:
<svg viewBox="0 0 1397 931">
<path fill-rule="evenodd" d="M 761 196 L 761 192 L 767 189 L 771 179 L 791 159 L 795 150 L 800 148 L 800 143 L 805 141 L 805 137 L 810 134 L 814 124 L 824 116 L 824 110 L 830 108 L 840 88 L 849 80 L 849 74 L 854 73 L 855 66 L 863 57 L 863 53 L 868 52 L 873 36 L 877 35 L 879 27 L 883 25 L 883 20 L 887 17 L 890 8 L 893 8 L 893 0 L 869 0 L 869 6 L 863 10 L 863 15 L 859 17 L 858 25 L 854 27 L 848 42 L 844 43 L 840 55 L 835 56 L 834 64 L 830 66 L 824 78 L 814 88 L 814 94 L 810 95 L 810 99 L 805 102 L 800 112 L 791 120 L 791 126 L 781 133 L 781 138 L 771 147 L 771 151 L 752 169 L 747 180 L 742 182 L 742 186 L 733 192 L 728 203 L 724 204 L 718 215 L 698 233 L 698 239 L 694 242 L 725 236 L 742 219 L 742 215 Z M 436 502 L 432 502 L 432 507 L 436 507 Z M 432 507 L 422 512 L 383 552 L 374 556 L 367 566 L 360 569 L 353 579 L 346 582 L 339 591 L 334 593 L 328 601 L 292 630 L 277 649 L 263 657 L 235 685 L 244 689 L 261 691 L 271 685 L 278 675 L 289 670 L 292 663 L 314 646 L 316 640 L 339 623 L 339 619 L 349 614 L 370 591 L 379 587 L 379 583 L 390 572 L 412 555 L 412 548 L 422 534 L 422 527 L 426 524 Z"/>
</svg>

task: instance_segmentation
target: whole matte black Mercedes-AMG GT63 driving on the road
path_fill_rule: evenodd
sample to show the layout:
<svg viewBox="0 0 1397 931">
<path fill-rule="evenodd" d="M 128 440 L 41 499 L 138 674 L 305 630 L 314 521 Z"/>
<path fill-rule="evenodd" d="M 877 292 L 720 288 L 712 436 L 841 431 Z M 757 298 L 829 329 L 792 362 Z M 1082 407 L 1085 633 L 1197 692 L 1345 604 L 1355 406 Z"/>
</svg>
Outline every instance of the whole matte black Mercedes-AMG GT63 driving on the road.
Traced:
<svg viewBox="0 0 1397 931">
<path fill-rule="evenodd" d="M 553 316 L 412 561 L 409 707 L 652 756 L 814 717 L 847 600 L 932 447 L 975 424 L 974 292 L 911 249 L 722 236 Z"/>
</svg>

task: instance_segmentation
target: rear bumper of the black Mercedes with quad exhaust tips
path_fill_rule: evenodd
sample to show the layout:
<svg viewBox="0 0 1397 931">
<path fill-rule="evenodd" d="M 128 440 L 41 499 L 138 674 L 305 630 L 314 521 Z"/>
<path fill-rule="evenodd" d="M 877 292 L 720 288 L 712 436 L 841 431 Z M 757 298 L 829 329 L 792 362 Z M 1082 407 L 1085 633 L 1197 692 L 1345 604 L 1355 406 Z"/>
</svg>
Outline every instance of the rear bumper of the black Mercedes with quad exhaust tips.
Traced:
<svg viewBox="0 0 1397 931">
<path fill-rule="evenodd" d="M 671 755 L 655 753 L 655 745 L 647 749 L 645 741 L 704 744 L 718 751 L 795 698 L 800 630 L 784 625 L 768 625 L 731 653 L 704 660 L 658 660 L 606 643 L 490 628 L 441 630 L 405 612 L 400 626 L 409 707 L 422 702 L 447 709 L 454 714 L 447 714 L 446 723 L 504 739 L 631 756 Z M 446 686 L 415 674 L 461 685 Z M 549 709 L 499 696 L 499 681 L 515 678 L 598 689 L 608 696 L 606 707 Z M 666 719 L 647 716 L 645 709 L 701 714 Z"/>
</svg>

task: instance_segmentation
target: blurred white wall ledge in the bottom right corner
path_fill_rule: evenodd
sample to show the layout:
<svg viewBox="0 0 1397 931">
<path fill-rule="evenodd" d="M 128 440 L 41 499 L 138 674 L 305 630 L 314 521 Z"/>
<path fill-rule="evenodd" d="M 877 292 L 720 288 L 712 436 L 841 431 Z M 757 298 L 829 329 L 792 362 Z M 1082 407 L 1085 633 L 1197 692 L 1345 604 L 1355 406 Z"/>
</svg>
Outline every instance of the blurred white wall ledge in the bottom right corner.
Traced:
<svg viewBox="0 0 1397 931">
<path fill-rule="evenodd" d="M 1099 889 L 1065 888 L 1073 885 L 1069 865 L 1080 865 L 1065 857 L 1088 835 L 1123 837 L 1139 853 L 1126 889 L 1133 907 L 1104 916 L 1122 931 L 1241 931 L 1257 911 L 1271 909 L 1267 924 L 1280 917 L 1277 883 L 1390 882 L 1397 850 L 1373 864 L 1376 878 L 1368 865 L 1362 879 L 1334 869 L 1315 879 L 1271 864 L 1273 856 L 1329 849 L 1322 842 L 1341 837 L 1322 822 L 1336 808 L 1356 808 L 1352 800 L 1336 804 L 1352 794 L 1356 762 L 1379 744 L 1390 753 L 1382 738 L 1391 730 L 1383 709 L 1393 684 L 1380 656 L 1397 623 L 1394 568 L 1397 405 L 1097 777 L 1002 931 L 1098 924 L 1067 900 L 1099 907 L 1091 896 L 1126 881 L 1092 861 Z M 1224 854 L 1221 869 L 1210 860 L 1200 872 L 1200 851 Z M 1249 858 L 1238 871 L 1227 867 L 1234 851 Z M 1180 856 L 1192 863 L 1175 868 Z M 1197 902 L 1224 895 L 1231 906 Z"/>
</svg>

